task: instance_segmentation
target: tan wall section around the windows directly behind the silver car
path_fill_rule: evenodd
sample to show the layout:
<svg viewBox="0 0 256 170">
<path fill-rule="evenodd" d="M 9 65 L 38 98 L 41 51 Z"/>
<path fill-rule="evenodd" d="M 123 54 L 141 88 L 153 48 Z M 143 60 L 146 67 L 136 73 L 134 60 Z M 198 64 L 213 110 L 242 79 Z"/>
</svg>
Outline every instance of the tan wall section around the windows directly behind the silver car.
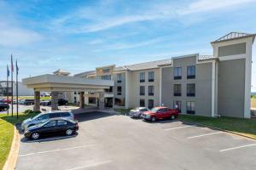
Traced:
<svg viewBox="0 0 256 170">
<path fill-rule="evenodd" d="M 154 71 L 154 82 L 148 82 L 148 72 Z M 140 82 L 139 74 L 145 72 L 145 82 Z M 160 105 L 160 69 L 145 71 L 132 71 L 129 83 L 130 103 L 129 108 L 140 105 L 140 99 L 145 99 L 145 106 L 148 107 L 148 99 L 154 99 L 154 106 Z M 154 86 L 154 96 L 148 96 L 148 86 Z M 140 86 L 145 86 L 145 95 L 140 95 Z"/>
</svg>

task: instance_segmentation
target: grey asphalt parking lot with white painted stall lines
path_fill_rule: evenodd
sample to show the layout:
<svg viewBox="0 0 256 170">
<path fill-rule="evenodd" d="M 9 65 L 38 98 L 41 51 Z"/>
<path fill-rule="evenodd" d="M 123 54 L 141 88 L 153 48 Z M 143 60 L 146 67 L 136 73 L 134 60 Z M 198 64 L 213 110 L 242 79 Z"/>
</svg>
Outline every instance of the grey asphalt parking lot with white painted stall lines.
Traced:
<svg viewBox="0 0 256 170">
<path fill-rule="evenodd" d="M 79 114 L 73 137 L 21 138 L 16 169 L 255 169 L 256 141 L 178 121 Z"/>
</svg>

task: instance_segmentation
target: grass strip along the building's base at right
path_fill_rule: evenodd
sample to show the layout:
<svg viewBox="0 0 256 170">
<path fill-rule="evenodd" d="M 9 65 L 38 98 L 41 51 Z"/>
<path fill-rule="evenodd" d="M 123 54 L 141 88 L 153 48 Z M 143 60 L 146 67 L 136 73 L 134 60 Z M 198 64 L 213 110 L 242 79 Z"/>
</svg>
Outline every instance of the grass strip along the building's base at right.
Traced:
<svg viewBox="0 0 256 170">
<path fill-rule="evenodd" d="M 196 122 L 204 125 L 222 128 L 256 139 L 256 120 L 255 119 L 241 119 L 234 117 L 205 117 L 205 116 L 189 116 L 179 115 L 178 120 L 185 122 Z"/>
</svg>

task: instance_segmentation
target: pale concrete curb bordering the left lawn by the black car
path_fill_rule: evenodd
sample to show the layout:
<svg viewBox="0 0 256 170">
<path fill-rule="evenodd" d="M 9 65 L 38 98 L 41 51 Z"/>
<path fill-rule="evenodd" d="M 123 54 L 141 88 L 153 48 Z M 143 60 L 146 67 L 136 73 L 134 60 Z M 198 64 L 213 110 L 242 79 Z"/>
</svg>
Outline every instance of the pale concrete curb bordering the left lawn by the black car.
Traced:
<svg viewBox="0 0 256 170">
<path fill-rule="evenodd" d="M 18 132 L 16 126 L 14 126 L 14 131 L 14 139 L 11 145 L 11 149 L 9 150 L 9 156 L 4 163 L 3 170 L 15 169 L 16 166 L 16 161 L 20 149 L 20 133 Z"/>
</svg>

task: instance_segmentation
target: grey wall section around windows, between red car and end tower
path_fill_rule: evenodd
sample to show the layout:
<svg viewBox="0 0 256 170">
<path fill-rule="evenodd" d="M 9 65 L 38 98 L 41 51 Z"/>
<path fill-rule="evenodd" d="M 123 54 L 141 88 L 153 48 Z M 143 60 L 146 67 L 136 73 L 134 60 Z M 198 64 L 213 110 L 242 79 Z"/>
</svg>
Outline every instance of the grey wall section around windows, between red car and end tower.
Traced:
<svg viewBox="0 0 256 170">
<path fill-rule="evenodd" d="M 195 79 L 187 79 L 187 66 L 195 65 Z M 182 67 L 182 79 L 174 80 L 174 67 Z M 187 96 L 187 84 L 195 83 L 195 97 Z M 182 96 L 174 96 L 174 84 L 181 84 Z M 173 59 L 173 66 L 162 68 L 162 104 L 173 108 L 175 100 L 181 101 L 181 112 L 186 113 L 187 101 L 195 101 L 195 115 L 211 116 L 212 63 L 196 65 L 196 57 Z"/>
</svg>

